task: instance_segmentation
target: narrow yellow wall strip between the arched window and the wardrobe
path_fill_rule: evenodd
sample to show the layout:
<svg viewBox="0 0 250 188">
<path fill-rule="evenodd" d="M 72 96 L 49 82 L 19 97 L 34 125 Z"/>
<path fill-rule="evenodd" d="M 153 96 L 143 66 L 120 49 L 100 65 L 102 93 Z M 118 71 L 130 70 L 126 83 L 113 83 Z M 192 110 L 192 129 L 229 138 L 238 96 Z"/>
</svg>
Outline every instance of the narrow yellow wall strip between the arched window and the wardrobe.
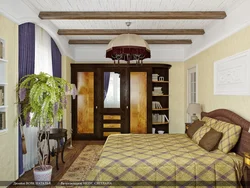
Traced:
<svg viewBox="0 0 250 188">
<path fill-rule="evenodd" d="M 62 56 L 62 78 L 71 83 L 71 68 L 70 64 L 73 63 L 74 60 L 67 56 Z M 68 138 L 71 137 L 71 96 L 67 96 L 68 105 L 64 110 L 63 114 L 63 127 L 68 131 Z"/>
</svg>

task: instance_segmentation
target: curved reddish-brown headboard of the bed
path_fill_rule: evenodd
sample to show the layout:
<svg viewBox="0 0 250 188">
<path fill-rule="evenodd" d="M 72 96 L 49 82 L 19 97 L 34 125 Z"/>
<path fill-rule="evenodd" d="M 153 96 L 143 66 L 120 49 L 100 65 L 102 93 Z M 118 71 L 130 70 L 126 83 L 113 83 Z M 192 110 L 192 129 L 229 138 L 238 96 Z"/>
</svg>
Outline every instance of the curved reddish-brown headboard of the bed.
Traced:
<svg viewBox="0 0 250 188">
<path fill-rule="evenodd" d="M 250 133 L 248 132 L 250 128 L 249 121 L 245 120 L 238 114 L 226 109 L 218 109 L 211 112 L 202 112 L 201 118 L 204 116 L 241 126 L 242 131 L 239 141 L 232 149 L 232 151 L 241 156 L 243 156 L 244 152 L 250 152 Z"/>
</svg>

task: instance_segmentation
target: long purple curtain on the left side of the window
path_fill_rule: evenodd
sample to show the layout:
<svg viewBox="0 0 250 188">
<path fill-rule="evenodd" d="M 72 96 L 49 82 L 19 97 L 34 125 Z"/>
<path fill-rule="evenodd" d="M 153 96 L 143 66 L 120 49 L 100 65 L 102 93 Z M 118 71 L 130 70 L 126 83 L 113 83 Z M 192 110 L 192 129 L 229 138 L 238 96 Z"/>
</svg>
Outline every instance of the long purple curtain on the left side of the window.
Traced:
<svg viewBox="0 0 250 188">
<path fill-rule="evenodd" d="M 19 81 L 25 75 L 34 74 L 35 67 L 35 25 L 25 23 L 19 25 Z M 20 123 L 20 122 L 19 122 Z M 23 153 L 20 126 L 18 126 L 19 176 L 23 173 Z"/>
</svg>

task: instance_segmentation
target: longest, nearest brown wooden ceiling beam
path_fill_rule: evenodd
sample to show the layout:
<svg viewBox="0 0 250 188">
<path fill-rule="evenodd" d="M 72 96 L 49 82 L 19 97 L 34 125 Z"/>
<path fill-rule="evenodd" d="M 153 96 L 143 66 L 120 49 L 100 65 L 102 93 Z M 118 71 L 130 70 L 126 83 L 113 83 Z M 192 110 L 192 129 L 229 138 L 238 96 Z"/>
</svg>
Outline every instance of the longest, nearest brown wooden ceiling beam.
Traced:
<svg viewBox="0 0 250 188">
<path fill-rule="evenodd" d="M 165 20 L 165 19 L 224 19 L 224 11 L 153 11 L 153 12 L 49 12 L 42 11 L 39 18 L 47 20 Z"/>
</svg>

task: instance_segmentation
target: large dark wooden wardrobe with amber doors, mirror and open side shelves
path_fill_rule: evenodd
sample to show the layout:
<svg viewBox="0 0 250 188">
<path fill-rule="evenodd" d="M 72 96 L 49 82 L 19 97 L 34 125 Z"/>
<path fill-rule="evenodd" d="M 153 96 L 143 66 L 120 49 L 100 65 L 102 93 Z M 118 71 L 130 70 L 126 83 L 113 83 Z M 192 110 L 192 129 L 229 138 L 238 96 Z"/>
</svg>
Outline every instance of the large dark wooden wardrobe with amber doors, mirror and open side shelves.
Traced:
<svg viewBox="0 0 250 188">
<path fill-rule="evenodd" d="M 71 80 L 78 95 L 72 100 L 73 139 L 105 139 L 114 133 L 168 133 L 168 122 L 152 123 L 152 113 L 169 117 L 167 64 L 72 64 Z M 152 74 L 164 80 L 152 81 Z M 152 95 L 160 87 L 163 95 Z M 152 108 L 159 101 L 161 109 Z"/>
</svg>

